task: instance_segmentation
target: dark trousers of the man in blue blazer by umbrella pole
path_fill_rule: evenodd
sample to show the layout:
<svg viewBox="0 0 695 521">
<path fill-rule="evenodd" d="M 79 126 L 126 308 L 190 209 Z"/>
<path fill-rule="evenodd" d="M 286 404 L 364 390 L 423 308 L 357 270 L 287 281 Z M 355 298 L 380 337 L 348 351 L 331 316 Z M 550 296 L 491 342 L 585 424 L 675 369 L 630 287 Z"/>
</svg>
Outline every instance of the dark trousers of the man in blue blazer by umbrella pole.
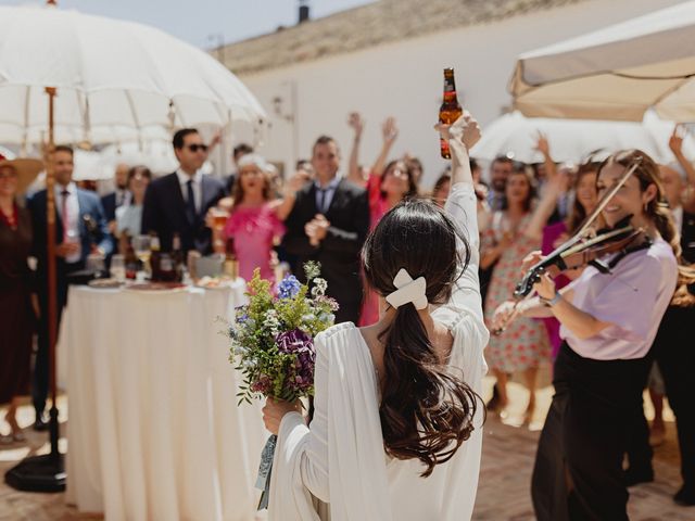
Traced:
<svg viewBox="0 0 695 521">
<path fill-rule="evenodd" d="M 65 265 L 59 260 L 56 266 L 56 300 L 58 316 L 56 330 L 60 331 L 61 319 L 63 317 L 63 308 L 67 304 L 67 289 L 70 274 L 84 269 L 84 263 L 75 263 Z M 41 272 L 39 266 L 39 272 Z M 39 319 L 38 346 L 36 352 L 36 360 L 34 363 L 34 377 L 31 379 L 31 402 L 37 418 L 43 414 L 46 409 L 46 401 L 48 398 L 50 374 L 49 374 L 49 327 L 48 327 L 48 281 L 45 277 L 40 277 L 38 281 L 39 307 L 41 316 Z M 56 338 L 58 341 L 58 338 Z"/>
</svg>

